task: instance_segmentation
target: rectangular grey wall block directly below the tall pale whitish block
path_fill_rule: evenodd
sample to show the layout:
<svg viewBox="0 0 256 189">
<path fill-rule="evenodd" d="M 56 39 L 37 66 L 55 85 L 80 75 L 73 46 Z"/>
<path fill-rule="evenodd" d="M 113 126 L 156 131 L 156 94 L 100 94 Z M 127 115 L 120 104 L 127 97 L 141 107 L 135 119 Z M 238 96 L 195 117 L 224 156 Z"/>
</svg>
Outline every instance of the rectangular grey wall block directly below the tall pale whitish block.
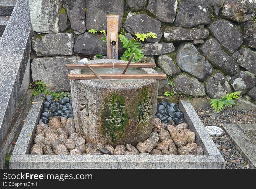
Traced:
<svg viewBox="0 0 256 189">
<path fill-rule="evenodd" d="M 37 56 L 72 55 L 74 53 L 74 34 L 43 34 L 31 39 Z"/>
</svg>

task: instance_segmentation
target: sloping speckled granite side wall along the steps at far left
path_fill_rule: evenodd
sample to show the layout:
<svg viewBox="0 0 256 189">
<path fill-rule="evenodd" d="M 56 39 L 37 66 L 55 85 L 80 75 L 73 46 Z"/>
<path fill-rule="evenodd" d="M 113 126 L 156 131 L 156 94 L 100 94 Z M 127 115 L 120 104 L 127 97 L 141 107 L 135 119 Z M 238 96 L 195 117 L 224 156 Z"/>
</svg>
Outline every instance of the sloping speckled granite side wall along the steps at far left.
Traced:
<svg viewBox="0 0 256 189">
<path fill-rule="evenodd" d="M 18 0 L 0 42 L 0 144 L 28 89 L 30 30 L 28 1 Z"/>
</svg>

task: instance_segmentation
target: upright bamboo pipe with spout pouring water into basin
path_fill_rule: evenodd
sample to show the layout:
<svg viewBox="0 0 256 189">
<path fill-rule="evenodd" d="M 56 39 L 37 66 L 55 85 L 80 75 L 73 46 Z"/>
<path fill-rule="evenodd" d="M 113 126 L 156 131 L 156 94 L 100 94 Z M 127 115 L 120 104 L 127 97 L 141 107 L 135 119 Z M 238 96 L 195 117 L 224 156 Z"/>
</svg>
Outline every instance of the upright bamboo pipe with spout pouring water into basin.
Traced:
<svg viewBox="0 0 256 189">
<path fill-rule="evenodd" d="M 118 60 L 118 19 L 115 14 L 107 15 L 107 58 Z"/>
</svg>

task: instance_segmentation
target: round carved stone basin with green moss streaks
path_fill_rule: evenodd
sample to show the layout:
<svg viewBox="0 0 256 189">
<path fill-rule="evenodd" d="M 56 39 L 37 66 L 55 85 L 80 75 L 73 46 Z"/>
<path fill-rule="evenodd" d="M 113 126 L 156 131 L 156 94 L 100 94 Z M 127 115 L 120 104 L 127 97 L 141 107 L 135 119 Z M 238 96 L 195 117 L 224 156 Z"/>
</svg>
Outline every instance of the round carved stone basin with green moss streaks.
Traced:
<svg viewBox="0 0 256 189">
<path fill-rule="evenodd" d="M 89 64 L 113 62 L 127 63 L 103 59 L 89 61 Z M 152 68 L 136 69 L 138 73 L 157 73 Z M 81 69 L 70 73 L 81 74 Z M 100 80 L 70 80 L 70 84 L 76 130 L 86 142 L 136 145 L 150 135 L 159 80 L 109 80 L 105 83 Z"/>
</svg>

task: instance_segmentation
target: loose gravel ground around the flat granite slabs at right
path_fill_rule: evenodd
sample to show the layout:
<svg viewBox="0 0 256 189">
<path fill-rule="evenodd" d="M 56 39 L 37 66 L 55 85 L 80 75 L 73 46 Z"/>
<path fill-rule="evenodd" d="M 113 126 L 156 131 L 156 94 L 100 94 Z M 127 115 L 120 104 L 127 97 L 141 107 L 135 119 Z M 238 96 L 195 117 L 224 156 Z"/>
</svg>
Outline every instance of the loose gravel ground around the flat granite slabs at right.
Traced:
<svg viewBox="0 0 256 189">
<path fill-rule="evenodd" d="M 252 110 L 223 110 L 220 113 L 215 113 L 212 109 L 195 109 L 195 111 L 205 126 L 214 125 L 221 127 L 222 123 L 251 124 L 256 122 L 256 111 Z M 211 138 L 225 159 L 226 168 L 248 168 L 241 153 L 232 144 L 224 129 L 222 135 L 212 136 Z"/>
</svg>

